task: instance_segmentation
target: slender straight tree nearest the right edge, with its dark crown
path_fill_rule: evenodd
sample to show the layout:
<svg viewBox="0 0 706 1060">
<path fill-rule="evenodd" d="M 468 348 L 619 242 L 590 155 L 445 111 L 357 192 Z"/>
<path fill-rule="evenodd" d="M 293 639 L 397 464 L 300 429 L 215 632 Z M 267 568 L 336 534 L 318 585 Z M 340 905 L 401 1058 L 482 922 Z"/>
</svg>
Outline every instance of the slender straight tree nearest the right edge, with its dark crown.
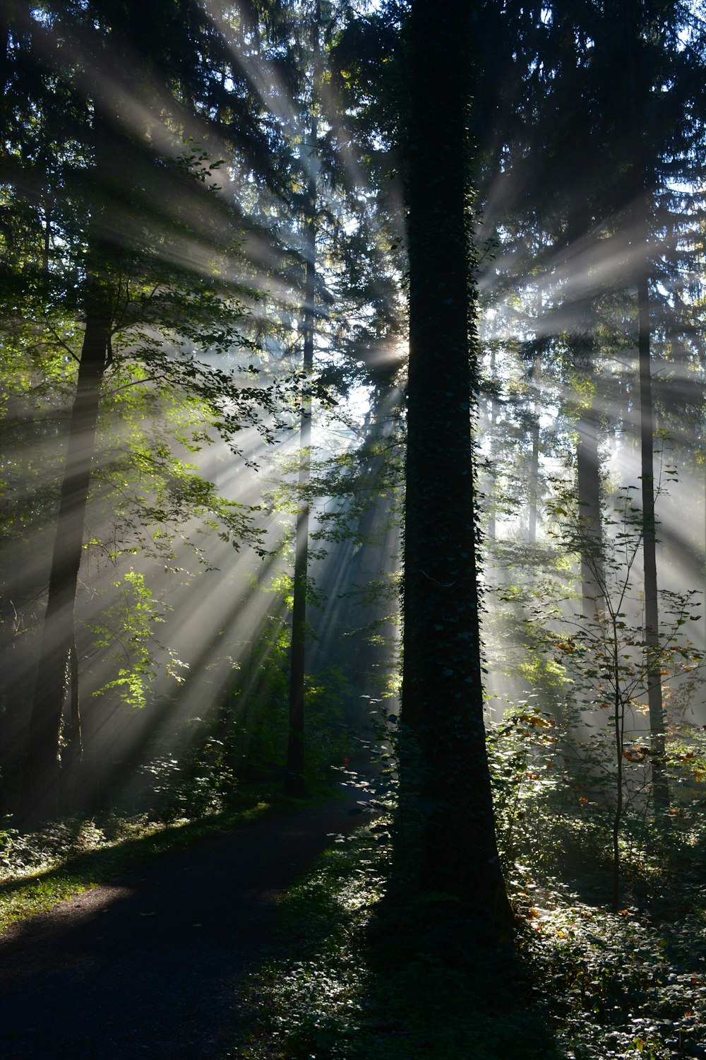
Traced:
<svg viewBox="0 0 706 1060">
<path fill-rule="evenodd" d="M 659 666 L 653 360 L 659 332 L 673 335 L 680 329 L 677 300 L 665 299 L 659 285 L 678 287 L 685 258 L 691 255 L 693 261 L 694 255 L 693 240 L 685 245 L 684 234 L 693 230 L 692 214 L 700 198 L 703 208 L 699 181 L 706 152 L 706 71 L 703 30 L 694 39 L 688 5 L 678 0 L 613 0 L 605 14 L 599 47 L 628 104 L 610 110 L 609 154 L 619 163 L 615 194 L 624 229 L 627 273 L 634 289 L 645 651 L 653 799 L 659 812 L 668 809 L 670 793 Z M 694 43 L 701 43 L 701 50 Z M 674 194 L 676 181 L 693 189 L 686 199 Z"/>
</svg>

